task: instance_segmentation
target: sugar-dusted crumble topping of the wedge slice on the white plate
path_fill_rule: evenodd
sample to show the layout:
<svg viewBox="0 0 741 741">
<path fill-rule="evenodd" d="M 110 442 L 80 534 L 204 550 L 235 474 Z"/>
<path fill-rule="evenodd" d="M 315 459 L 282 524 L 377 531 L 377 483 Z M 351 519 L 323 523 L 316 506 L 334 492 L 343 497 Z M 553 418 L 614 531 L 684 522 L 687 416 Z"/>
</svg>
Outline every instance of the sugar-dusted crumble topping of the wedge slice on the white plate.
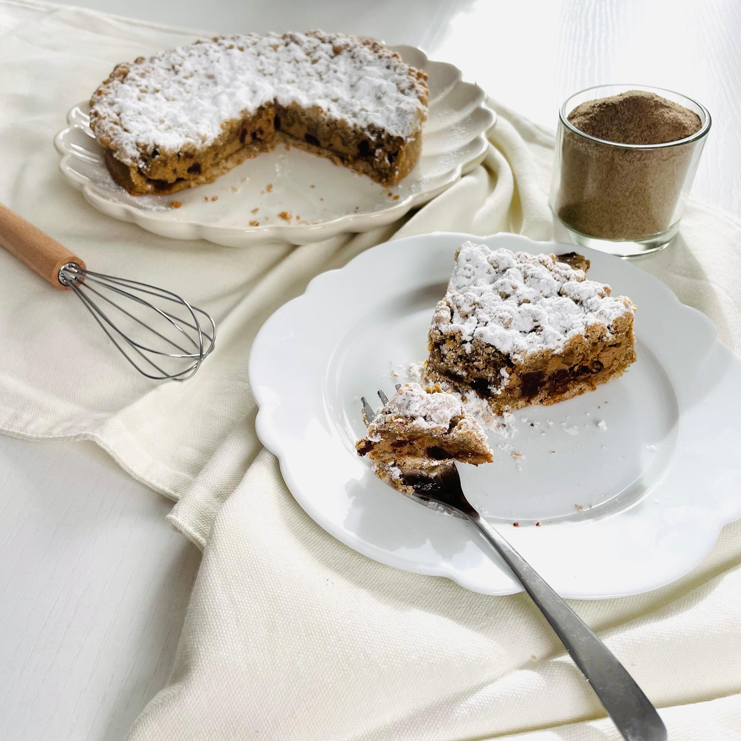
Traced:
<svg viewBox="0 0 741 741">
<path fill-rule="evenodd" d="M 624 296 L 611 297 L 608 285 L 587 280 L 583 270 L 550 255 L 465 242 L 433 327 L 460 332 L 467 350 L 479 339 L 502 353 L 525 356 L 558 351 L 589 326 L 609 328 L 634 309 Z"/>
</svg>

